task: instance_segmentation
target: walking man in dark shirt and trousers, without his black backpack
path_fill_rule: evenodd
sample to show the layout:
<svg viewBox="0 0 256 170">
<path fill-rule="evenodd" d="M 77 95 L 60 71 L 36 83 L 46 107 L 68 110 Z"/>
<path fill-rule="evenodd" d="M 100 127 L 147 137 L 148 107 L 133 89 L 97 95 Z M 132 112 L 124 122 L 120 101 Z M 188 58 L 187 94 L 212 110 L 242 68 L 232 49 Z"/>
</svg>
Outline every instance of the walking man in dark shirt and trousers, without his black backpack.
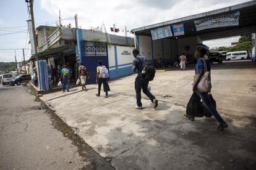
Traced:
<svg viewBox="0 0 256 170">
<path fill-rule="evenodd" d="M 156 100 L 155 96 L 153 96 L 148 91 L 149 80 L 142 78 L 143 65 L 148 61 L 145 56 L 139 55 L 138 49 L 134 49 L 134 51 L 132 51 L 132 54 L 134 55 L 134 58 L 135 58 L 132 63 L 132 71 L 138 72 L 138 75 L 135 78 L 135 91 L 136 91 L 136 99 L 137 99 L 137 105 L 135 106 L 135 108 L 143 109 L 142 102 L 141 102 L 142 96 L 140 94 L 141 91 L 143 91 L 143 93 L 147 95 L 147 97 L 154 104 L 154 108 L 156 108 L 158 107 L 158 100 Z"/>
</svg>

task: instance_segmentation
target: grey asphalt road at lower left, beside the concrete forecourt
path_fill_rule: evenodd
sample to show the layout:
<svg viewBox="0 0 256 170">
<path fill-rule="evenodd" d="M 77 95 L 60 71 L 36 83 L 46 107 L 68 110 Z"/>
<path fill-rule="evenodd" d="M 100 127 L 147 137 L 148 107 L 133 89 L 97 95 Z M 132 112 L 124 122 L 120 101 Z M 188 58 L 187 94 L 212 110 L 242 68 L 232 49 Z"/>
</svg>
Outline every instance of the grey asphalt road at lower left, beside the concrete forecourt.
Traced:
<svg viewBox="0 0 256 170">
<path fill-rule="evenodd" d="M 0 169 L 111 169 L 25 86 L 0 85 Z"/>
</svg>

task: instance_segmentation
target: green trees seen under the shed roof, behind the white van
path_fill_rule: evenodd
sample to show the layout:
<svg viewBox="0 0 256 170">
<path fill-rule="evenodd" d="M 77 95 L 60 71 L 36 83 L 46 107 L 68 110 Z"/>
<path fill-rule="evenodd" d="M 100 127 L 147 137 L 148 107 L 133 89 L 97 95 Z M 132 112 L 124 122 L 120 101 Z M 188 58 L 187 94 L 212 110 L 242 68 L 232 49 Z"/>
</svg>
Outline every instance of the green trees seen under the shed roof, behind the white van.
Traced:
<svg viewBox="0 0 256 170">
<path fill-rule="evenodd" d="M 234 46 L 234 47 L 219 47 L 218 51 L 228 51 L 228 52 L 245 51 L 245 50 L 251 50 L 252 47 L 253 47 L 252 36 L 245 35 L 245 36 L 241 36 L 241 38 L 239 38 L 238 44 L 236 46 Z"/>
</svg>

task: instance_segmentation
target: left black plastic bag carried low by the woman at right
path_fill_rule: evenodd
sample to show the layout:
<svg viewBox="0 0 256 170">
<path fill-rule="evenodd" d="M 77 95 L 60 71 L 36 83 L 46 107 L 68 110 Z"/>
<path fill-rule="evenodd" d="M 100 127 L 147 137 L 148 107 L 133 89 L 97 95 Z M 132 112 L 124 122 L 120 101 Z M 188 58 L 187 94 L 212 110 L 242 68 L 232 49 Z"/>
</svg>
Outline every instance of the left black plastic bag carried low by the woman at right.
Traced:
<svg viewBox="0 0 256 170">
<path fill-rule="evenodd" d="M 196 92 L 192 94 L 187 103 L 186 114 L 193 117 L 203 117 L 204 115 L 203 104 Z"/>
</svg>

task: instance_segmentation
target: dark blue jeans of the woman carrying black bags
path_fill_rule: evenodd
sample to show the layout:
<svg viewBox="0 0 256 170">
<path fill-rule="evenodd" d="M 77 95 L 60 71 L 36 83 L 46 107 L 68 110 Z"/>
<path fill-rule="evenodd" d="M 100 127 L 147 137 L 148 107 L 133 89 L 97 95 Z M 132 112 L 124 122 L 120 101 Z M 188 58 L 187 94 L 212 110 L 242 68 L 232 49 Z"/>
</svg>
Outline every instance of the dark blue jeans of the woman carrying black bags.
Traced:
<svg viewBox="0 0 256 170">
<path fill-rule="evenodd" d="M 213 104 L 210 101 L 210 97 L 208 92 L 197 92 L 199 97 L 203 100 L 203 105 L 210 111 L 211 115 L 215 116 L 215 118 L 220 122 L 220 123 L 225 123 L 223 118 L 221 118 L 220 114 L 216 110 L 215 107 L 213 107 Z"/>
</svg>

